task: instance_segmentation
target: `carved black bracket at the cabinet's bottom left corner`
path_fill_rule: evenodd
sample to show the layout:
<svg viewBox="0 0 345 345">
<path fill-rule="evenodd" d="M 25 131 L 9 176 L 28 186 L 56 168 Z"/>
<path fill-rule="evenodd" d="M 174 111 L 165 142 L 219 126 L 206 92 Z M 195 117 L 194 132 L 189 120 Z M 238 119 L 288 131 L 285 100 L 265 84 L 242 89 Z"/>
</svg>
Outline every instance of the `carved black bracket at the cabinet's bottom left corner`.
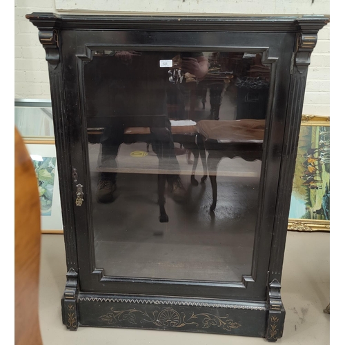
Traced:
<svg viewBox="0 0 345 345">
<path fill-rule="evenodd" d="M 70 331 L 77 331 L 78 328 L 78 274 L 73 268 L 70 268 L 67 275 L 67 282 L 62 304 L 62 322 Z"/>
</svg>

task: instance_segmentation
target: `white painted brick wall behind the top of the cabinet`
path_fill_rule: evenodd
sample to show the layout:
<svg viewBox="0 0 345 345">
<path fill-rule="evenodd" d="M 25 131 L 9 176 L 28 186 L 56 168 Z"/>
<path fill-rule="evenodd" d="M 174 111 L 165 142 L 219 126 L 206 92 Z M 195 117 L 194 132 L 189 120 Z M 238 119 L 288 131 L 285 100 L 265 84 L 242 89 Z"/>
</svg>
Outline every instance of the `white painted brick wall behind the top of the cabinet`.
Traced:
<svg viewBox="0 0 345 345">
<path fill-rule="evenodd" d="M 14 98 L 50 99 L 46 53 L 38 30 L 25 18 L 32 12 L 109 14 L 329 14 L 329 0 L 15 0 Z M 304 114 L 330 115 L 330 30 L 319 32 L 308 71 Z"/>
</svg>

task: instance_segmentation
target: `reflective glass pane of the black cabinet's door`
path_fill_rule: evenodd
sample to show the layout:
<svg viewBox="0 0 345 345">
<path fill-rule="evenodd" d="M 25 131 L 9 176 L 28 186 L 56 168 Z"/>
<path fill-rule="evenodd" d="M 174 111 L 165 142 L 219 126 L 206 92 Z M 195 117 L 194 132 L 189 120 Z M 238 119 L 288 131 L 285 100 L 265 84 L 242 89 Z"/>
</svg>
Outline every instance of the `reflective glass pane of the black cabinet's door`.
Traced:
<svg viewBox="0 0 345 345">
<path fill-rule="evenodd" d="M 270 80 L 261 55 L 101 50 L 83 77 L 97 268 L 250 275 Z"/>
</svg>

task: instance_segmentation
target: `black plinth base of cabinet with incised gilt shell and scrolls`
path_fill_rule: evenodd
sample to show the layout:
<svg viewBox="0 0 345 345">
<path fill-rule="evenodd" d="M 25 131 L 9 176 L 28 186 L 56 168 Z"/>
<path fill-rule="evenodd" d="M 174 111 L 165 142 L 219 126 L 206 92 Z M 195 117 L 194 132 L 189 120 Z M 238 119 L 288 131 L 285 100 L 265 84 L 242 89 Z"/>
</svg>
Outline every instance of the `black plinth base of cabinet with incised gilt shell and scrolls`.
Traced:
<svg viewBox="0 0 345 345">
<path fill-rule="evenodd" d="M 63 308 L 64 303 L 66 304 L 66 299 L 63 300 Z M 251 337 L 266 337 L 269 333 L 268 328 L 274 328 L 273 331 L 277 328 L 274 325 L 272 328 L 271 323 L 266 322 L 272 318 L 267 302 L 79 292 L 76 303 L 77 326 L 157 329 Z M 284 322 L 282 314 L 285 314 L 284 311 L 279 315 Z M 273 320 L 275 321 L 276 319 Z"/>
</svg>

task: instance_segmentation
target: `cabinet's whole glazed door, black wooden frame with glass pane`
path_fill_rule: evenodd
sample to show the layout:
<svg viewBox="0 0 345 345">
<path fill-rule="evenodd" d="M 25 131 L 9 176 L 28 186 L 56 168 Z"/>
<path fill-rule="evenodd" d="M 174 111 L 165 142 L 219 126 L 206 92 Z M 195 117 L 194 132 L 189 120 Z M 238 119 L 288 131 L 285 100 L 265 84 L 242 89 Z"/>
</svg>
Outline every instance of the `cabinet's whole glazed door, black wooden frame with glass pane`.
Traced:
<svg viewBox="0 0 345 345">
<path fill-rule="evenodd" d="M 80 290 L 264 300 L 295 34 L 62 39 Z"/>
</svg>

